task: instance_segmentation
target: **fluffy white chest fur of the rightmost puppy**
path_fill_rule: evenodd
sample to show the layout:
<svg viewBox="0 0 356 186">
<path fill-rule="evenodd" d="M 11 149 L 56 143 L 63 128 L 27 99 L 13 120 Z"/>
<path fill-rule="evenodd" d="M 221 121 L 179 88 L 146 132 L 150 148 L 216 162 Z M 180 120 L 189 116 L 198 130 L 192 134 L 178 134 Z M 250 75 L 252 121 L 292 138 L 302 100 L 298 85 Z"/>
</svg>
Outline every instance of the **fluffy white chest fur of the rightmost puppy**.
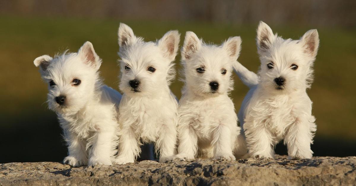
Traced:
<svg viewBox="0 0 356 186">
<path fill-rule="evenodd" d="M 256 100 L 246 114 L 245 123 L 253 123 L 254 127 L 265 126 L 275 138 L 281 139 L 297 120 L 297 105 L 288 95 Z"/>
</svg>

